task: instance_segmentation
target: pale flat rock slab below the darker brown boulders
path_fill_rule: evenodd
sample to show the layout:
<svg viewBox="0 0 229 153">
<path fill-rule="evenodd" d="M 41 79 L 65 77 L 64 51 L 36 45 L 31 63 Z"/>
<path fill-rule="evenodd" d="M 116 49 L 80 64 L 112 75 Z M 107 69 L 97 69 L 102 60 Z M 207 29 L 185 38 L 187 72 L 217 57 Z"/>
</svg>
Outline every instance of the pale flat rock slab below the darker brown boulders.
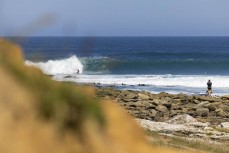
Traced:
<svg viewBox="0 0 229 153">
<path fill-rule="evenodd" d="M 204 138 L 218 141 L 229 141 L 229 132 L 222 132 L 210 127 L 210 123 L 198 122 L 190 115 L 178 115 L 166 122 L 155 122 L 144 119 L 136 119 L 143 128 L 166 135 L 174 135 L 189 138 Z M 227 127 L 227 123 L 221 123 Z"/>
</svg>

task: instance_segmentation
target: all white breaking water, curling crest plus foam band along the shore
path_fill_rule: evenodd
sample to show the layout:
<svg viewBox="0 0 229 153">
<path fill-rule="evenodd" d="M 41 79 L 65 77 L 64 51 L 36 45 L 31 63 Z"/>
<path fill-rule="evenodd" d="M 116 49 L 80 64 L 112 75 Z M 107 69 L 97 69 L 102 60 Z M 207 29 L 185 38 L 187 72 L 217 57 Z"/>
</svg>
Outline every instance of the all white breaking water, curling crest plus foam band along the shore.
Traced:
<svg viewBox="0 0 229 153">
<path fill-rule="evenodd" d="M 46 62 L 25 61 L 28 66 L 41 69 L 57 81 L 114 86 L 125 90 L 145 90 L 153 93 L 204 94 L 208 79 L 213 82 L 214 95 L 225 95 L 229 91 L 229 76 L 222 75 L 141 75 L 141 74 L 97 74 L 83 71 L 84 66 L 76 55 L 66 59 Z M 79 73 L 78 73 L 79 70 Z"/>
</svg>

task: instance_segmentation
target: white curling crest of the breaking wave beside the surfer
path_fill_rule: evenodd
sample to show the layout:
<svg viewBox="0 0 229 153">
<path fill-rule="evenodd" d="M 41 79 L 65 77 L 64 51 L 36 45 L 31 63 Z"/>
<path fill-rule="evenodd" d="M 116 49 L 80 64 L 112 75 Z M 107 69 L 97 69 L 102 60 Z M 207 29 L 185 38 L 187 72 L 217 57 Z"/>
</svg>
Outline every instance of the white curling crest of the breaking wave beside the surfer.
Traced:
<svg viewBox="0 0 229 153">
<path fill-rule="evenodd" d="M 61 60 L 48 60 L 47 62 L 25 62 L 28 66 L 35 66 L 48 75 L 72 75 L 83 72 L 83 65 L 76 56 Z"/>
</svg>

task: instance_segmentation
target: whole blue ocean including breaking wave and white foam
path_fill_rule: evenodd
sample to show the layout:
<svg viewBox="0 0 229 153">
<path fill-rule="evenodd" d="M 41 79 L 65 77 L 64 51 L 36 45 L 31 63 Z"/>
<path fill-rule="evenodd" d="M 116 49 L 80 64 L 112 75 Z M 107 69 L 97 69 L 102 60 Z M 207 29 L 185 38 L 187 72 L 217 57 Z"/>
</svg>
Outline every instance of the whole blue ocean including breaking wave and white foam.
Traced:
<svg viewBox="0 0 229 153">
<path fill-rule="evenodd" d="M 13 39 L 13 38 L 10 38 Z M 152 93 L 229 94 L 229 37 L 27 37 L 25 64 L 54 80 Z M 79 73 L 78 73 L 79 72 Z"/>
</svg>

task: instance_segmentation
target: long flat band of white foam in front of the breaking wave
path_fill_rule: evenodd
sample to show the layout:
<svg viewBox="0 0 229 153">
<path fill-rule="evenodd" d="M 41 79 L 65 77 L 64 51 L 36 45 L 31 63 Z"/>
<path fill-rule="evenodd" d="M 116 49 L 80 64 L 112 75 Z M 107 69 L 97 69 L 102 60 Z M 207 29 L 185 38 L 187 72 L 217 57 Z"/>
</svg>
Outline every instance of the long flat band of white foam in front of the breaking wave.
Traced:
<svg viewBox="0 0 229 153">
<path fill-rule="evenodd" d="M 151 85 L 151 86 L 183 86 L 202 88 L 207 86 L 211 79 L 214 87 L 229 87 L 229 76 L 210 75 L 79 75 L 77 78 L 56 78 L 63 81 L 100 84 L 126 84 L 126 85 Z"/>
</svg>

